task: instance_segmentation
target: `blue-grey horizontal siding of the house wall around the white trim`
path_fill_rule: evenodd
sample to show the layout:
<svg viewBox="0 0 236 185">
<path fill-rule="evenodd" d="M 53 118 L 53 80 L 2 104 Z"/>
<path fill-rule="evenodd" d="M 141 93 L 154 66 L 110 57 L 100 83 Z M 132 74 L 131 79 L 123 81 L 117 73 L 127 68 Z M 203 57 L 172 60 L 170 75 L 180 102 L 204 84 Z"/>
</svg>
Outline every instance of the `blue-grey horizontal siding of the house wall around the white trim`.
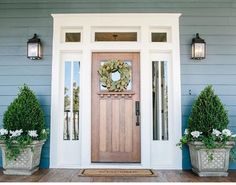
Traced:
<svg viewBox="0 0 236 185">
<path fill-rule="evenodd" d="M 182 13 L 180 18 L 183 130 L 191 105 L 206 84 L 213 84 L 229 110 L 230 128 L 236 131 L 236 1 L 234 0 L 0 0 L 0 124 L 18 86 L 29 84 L 36 92 L 50 125 L 52 13 Z M 190 43 L 196 32 L 207 42 L 207 59 L 190 60 Z M 44 45 L 44 59 L 26 59 L 26 42 L 34 33 Z M 189 95 L 191 89 L 192 95 Z M 188 150 L 183 168 L 189 169 Z M 1 165 L 1 164 L 0 164 Z M 41 167 L 49 166 L 49 142 L 43 148 Z M 231 163 L 230 168 L 236 169 Z"/>
</svg>

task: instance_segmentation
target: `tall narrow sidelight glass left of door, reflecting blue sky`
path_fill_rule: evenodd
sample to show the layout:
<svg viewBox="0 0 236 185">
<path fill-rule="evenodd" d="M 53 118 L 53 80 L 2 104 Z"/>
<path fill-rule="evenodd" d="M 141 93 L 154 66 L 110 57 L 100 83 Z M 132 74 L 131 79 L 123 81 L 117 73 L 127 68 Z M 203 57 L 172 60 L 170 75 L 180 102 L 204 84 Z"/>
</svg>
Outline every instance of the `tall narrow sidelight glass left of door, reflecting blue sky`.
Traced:
<svg viewBox="0 0 236 185">
<path fill-rule="evenodd" d="M 65 62 L 63 130 L 64 140 L 79 139 L 79 74 L 79 62 Z"/>
</svg>

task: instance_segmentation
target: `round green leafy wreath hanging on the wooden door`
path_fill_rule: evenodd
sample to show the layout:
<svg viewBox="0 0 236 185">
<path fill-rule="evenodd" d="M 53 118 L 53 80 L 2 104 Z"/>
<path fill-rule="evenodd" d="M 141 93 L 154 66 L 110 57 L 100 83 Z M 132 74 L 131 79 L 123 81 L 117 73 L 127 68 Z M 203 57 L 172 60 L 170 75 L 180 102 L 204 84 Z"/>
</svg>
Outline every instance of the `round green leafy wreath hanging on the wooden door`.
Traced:
<svg viewBox="0 0 236 185">
<path fill-rule="evenodd" d="M 111 74 L 120 73 L 120 79 L 113 81 Z M 131 70 L 127 63 L 121 60 L 108 60 L 98 70 L 103 87 L 110 92 L 121 92 L 127 89 L 130 82 Z"/>
</svg>

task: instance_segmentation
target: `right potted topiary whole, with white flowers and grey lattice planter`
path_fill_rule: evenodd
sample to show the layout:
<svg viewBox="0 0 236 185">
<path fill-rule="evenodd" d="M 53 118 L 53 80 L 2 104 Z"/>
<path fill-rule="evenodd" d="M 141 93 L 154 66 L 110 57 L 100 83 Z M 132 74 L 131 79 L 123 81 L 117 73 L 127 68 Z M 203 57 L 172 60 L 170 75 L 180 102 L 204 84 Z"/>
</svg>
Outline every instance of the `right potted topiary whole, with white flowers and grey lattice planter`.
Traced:
<svg viewBox="0 0 236 185">
<path fill-rule="evenodd" d="M 193 172 L 199 176 L 227 176 L 230 151 L 236 135 L 227 129 L 229 120 L 212 86 L 193 104 L 188 127 L 179 145 L 188 145 Z"/>
</svg>

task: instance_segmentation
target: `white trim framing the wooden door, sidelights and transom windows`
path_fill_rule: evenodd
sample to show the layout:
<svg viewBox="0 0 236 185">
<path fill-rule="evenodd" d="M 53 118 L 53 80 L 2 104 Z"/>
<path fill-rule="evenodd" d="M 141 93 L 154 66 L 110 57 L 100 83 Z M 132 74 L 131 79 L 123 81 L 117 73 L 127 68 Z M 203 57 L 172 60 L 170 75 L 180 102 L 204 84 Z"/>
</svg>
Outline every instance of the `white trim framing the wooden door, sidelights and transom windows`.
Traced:
<svg viewBox="0 0 236 185">
<path fill-rule="evenodd" d="M 53 16 L 53 59 L 52 59 L 52 89 L 51 89 L 51 140 L 50 140 L 50 168 L 157 168 L 181 169 L 181 150 L 175 143 L 181 137 L 181 95 L 180 95 L 180 49 L 179 49 L 179 16 L 180 14 L 52 14 Z M 137 29 L 137 42 L 103 42 L 93 41 L 96 29 Z M 63 42 L 63 30 L 74 29 L 81 32 L 80 43 Z M 165 43 L 152 43 L 152 30 L 167 29 L 169 37 Z M 80 73 L 80 159 L 76 164 L 59 163 L 63 154 L 58 136 L 62 125 L 60 112 L 63 110 L 60 92 L 61 62 L 64 52 L 81 54 Z M 92 52 L 140 52 L 140 89 L 141 89 L 141 163 L 140 164 L 92 164 L 91 163 L 91 54 Z M 168 163 L 160 164 L 152 161 L 153 155 L 164 150 L 165 142 L 155 145 L 152 140 L 152 55 L 164 53 L 169 56 L 171 65 L 169 116 L 173 132 L 170 143 L 172 158 Z M 161 143 L 161 144 L 160 144 Z M 154 152 L 153 152 L 154 150 Z M 75 154 L 76 155 L 76 154 Z M 169 160 L 169 159 L 167 159 Z M 154 163 L 153 163 L 154 162 Z"/>
</svg>

